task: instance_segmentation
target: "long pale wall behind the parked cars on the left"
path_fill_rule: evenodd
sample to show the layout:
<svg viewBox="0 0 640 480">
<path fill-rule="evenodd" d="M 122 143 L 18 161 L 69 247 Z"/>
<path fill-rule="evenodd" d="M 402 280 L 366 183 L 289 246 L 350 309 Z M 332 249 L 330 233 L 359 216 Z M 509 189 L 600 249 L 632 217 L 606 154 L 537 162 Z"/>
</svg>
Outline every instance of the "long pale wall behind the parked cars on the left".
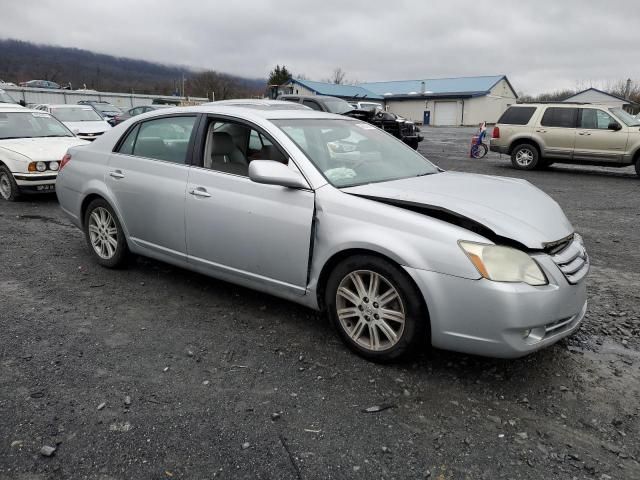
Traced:
<svg viewBox="0 0 640 480">
<path fill-rule="evenodd" d="M 109 92 L 78 92 L 75 90 L 53 90 L 47 88 L 24 88 L 2 86 L 2 89 L 11 95 L 16 101 L 24 100 L 26 103 L 70 103 L 75 104 L 80 100 L 96 100 L 109 102 L 117 107 L 129 109 L 140 105 L 151 105 L 155 98 L 170 100 L 189 100 L 195 103 L 207 102 L 206 98 L 199 97 L 169 97 L 166 95 L 135 95 L 128 93 Z"/>
</svg>

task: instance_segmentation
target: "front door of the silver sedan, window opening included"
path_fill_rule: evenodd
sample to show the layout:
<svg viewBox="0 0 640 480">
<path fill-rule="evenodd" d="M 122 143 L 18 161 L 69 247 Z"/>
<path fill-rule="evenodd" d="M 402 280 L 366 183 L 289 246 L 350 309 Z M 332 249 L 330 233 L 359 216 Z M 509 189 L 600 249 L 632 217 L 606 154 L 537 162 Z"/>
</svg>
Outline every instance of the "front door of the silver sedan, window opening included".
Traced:
<svg viewBox="0 0 640 480">
<path fill-rule="evenodd" d="M 289 162 L 265 131 L 209 117 L 201 132 L 199 158 L 194 159 L 187 186 L 189 262 L 225 280 L 303 295 L 314 192 L 249 179 L 250 161 Z"/>
</svg>

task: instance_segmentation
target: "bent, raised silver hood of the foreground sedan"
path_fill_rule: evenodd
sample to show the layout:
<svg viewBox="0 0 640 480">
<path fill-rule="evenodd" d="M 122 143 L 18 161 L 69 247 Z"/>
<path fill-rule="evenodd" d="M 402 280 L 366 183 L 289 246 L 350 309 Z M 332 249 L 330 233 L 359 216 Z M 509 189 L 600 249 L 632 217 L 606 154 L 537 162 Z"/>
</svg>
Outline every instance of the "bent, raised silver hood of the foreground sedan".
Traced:
<svg viewBox="0 0 640 480">
<path fill-rule="evenodd" d="M 556 201 L 525 180 L 444 172 L 342 191 L 385 203 L 395 200 L 400 208 L 405 202 L 453 212 L 532 249 L 573 233 Z"/>
</svg>

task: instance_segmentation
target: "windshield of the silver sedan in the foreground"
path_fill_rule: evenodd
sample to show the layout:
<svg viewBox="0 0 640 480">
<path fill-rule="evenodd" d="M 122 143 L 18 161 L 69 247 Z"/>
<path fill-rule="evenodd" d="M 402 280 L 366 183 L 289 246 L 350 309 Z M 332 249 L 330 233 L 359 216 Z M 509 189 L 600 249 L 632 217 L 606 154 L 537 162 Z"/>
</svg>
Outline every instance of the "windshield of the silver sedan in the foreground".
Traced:
<svg viewBox="0 0 640 480">
<path fill-rule="evenodd" d="M 351 120 L 273 120 L 334 187 L 437 173 L 422 155 L 391 135 Z"/>
</svg>

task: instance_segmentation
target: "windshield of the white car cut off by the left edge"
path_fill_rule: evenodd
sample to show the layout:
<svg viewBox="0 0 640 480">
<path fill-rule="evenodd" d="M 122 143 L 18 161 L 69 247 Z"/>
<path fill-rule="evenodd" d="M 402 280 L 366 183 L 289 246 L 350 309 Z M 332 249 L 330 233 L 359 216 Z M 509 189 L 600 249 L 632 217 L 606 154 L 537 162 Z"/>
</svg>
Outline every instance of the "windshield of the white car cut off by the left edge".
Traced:
<svg viewBox="0 0 640 480">
<path fill-rule="evenodd" d="M 48 113 L 0 112 L 0 140 L 41 137 L 73 137 L 73 133 Z"/>
</svg>

